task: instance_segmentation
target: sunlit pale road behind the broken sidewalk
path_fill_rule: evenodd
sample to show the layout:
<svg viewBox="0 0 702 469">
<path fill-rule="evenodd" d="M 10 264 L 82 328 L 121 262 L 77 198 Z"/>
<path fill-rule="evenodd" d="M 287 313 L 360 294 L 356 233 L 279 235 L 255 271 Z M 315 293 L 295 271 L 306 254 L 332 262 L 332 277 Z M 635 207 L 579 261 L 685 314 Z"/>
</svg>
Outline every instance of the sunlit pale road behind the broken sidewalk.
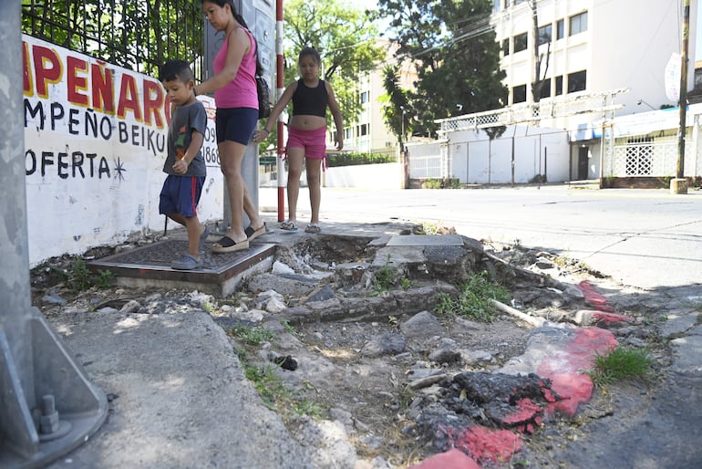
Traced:
<svg viewBox="0 0 702 469">
<path fill-rule="evenodd" d="M 262 210 L 277 210 L 276 188 L 261 188 Z M 302 188 L 298 219 L 309 216 Z M 285 212 L 286 214 L 286 212 Z M 633 287 L 702 284 L 702 192 L 583 185 L 359 191 L 323 188 L 321 219 L 445 224 L 483 241 L 519 242 L 583 261 Z"/>
</svg>

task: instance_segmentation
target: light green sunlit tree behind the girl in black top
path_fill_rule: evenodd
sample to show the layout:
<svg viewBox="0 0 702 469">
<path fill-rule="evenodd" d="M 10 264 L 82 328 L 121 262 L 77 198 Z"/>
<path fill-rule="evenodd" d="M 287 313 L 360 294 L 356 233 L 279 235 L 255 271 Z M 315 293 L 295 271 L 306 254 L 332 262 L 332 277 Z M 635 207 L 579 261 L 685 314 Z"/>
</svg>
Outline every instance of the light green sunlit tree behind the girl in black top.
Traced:
<svg viewBox="0 0 702 469">
<path fill-rule="evenodd" d="M 361 109 L 359 78 L 385 57 L 374 42 L 377 26 L 362 10 L 340 0 L 291 0 L 285 3 L 285 83 L 298 77 L 297 55 L 312 46 L 322 56 L 322 78 L 334 88 L 344 122 Z"/>
</svg>

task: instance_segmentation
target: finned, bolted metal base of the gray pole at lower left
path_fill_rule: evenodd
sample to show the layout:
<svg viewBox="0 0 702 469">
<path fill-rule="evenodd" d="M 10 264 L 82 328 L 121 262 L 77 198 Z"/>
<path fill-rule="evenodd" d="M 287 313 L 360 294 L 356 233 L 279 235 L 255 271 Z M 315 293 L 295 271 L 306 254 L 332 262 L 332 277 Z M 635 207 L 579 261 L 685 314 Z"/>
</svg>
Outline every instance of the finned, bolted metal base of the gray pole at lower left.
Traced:
<svg viewBox="0 0 702 469">
<path fill-rule="evenodd" d="M 108 415 L 105 394 L 88 381 L 46 319 L 34 307 L 26 316 L 22 342 L 0 324 L 0 467 L 7 469 L 42 467 L 70 453 Z M 18 348 L 31 357 L 29 376 L 13 357 Z"/>
</svg>

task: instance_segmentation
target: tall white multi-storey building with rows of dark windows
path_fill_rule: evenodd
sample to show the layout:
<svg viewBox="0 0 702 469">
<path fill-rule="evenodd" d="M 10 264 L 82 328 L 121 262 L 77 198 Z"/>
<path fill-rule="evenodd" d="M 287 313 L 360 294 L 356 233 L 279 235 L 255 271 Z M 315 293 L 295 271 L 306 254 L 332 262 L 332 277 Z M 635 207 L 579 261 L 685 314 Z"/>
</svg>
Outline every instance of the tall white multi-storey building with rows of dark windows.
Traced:
<svg viewBox="0 0 702 469">
<path fill-rule="evenodd" d="M 695 79 L 697 0 L 690 4 L 688 90 Z M 666 93 L 666 65 L 681 53 L 683 0 L 494 0 L 491 24 L 511 105 L 534 101 L 537 60 L 542 102 L 624 89 L 616 93 L 616 115 L 677 105 Z M 573 127 L 573 120 L 558 127 Z"/>
</svg>

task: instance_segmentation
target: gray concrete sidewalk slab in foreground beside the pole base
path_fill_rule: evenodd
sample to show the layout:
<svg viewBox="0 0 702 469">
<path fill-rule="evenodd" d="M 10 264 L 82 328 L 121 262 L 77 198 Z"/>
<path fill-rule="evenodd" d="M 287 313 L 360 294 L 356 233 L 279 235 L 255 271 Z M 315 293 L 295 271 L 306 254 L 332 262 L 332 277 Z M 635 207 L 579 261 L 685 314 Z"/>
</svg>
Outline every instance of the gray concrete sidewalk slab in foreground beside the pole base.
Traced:
<svg viewBox="0 0 702 469">
<path fill-rule="evenodd" d="M 76 312 L 51 322 L 107 393 L 110 412 L 90 441 L 47 467 L 314 466 L 263 406 L 223 329 L 201 307 Z"/>
</svg>

